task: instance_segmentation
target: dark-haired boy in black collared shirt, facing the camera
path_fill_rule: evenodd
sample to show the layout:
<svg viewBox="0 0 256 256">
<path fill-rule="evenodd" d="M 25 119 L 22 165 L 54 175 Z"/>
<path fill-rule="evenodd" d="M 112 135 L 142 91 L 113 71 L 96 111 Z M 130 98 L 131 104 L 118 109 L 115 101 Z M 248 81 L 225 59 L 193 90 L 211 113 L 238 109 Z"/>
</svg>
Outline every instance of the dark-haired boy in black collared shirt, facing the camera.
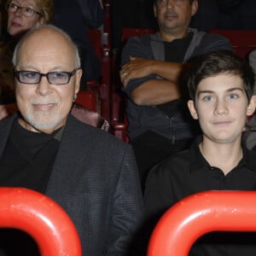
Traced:
<svg viewBox="0 0 256 256">
<path fill-rule="evenodd" d="M 247 116 L 255 110 L 253 81 L 247 61 L 231 52 L 201 55 L 191 63 L 188 106 L 202 136 L 149 173 L 144 201 L 152 225 L 185 196 L 212 189 L 256 190 L 256 154 L 241 143 Z M 253 256 L 256 235 L 211 233 L 189 255 Z"/>
</svg>

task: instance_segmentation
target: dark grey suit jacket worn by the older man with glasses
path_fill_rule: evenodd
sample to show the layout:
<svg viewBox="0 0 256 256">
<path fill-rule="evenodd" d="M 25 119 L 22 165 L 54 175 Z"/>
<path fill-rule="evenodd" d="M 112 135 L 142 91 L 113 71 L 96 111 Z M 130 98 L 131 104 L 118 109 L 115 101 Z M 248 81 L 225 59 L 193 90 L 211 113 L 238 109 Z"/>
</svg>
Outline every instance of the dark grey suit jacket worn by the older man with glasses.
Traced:
<svg viewBox="0 0 256 256">
<path fill-rule="evenodd" d="M 14 120 L 0 122 L 0 157 Z M 129 145 L 69 115 L 46 195 L 72 218 L 83 255 L 127 255 L 143 212 Z"/>
</svg>

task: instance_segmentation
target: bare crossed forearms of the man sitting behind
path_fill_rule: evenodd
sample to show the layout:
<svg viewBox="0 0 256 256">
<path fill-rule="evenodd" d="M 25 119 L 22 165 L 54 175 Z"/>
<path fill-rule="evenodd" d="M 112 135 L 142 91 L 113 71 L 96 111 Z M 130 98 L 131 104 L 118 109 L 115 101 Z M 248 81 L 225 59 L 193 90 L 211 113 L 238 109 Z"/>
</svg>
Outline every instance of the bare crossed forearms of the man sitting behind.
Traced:
<svg viewBox="0 0 256 256">
<path fill-rule="evenodd" d="M 180 97 L 177 86 L 178 75 L 183 64 L 168 61 L 155 61 L 131 57 L 120 70 L 120 79 L 124 88 L 131 79 L 141 79 L 151 74 L 160 79 L 148 79 L 131 93 L 132 101 L 137 105 L 158 105 Z"/>
</svg>

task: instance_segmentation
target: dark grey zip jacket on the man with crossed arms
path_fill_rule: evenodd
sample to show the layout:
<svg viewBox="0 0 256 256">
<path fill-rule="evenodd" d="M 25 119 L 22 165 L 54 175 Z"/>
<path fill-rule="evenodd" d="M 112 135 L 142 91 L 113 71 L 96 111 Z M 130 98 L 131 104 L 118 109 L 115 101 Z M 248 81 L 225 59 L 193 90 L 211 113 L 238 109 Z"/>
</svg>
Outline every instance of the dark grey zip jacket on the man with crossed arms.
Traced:
<svg viewBox="0 0 256 256">
<path fill-rule="evenodd" d="M 190 40 L 191 33 L 193 37 L 189 47 L 186 48 L 188 46 L 187 40 Z M 188 37 L 174 40 L 172 43 L 179 44 L 179 49 L 185 50 L 185 56 L 181 61 L 183 63 L 197 55 L 202 55 L 213 50 L 232 50 L 232 46 L 227 38 L 218 34 L 198 32 L 190 28 Z M 160 32 L 129 38 L 122 52 L 122 65 L 130 61 L 130 56 L 166 61 L 164 45 L 164 41 L 160 38 Z M 136 90 L 141 84 L 151 79 L 161 78 L 156 74 L 150 74 L 141 79 L 131 79 L 124 88 L 125 94 L 128 96 L 126 111 L 129 120 L 129 138 L 132 140 L 148 130 L 155 131 L 163 137 L 175 140 L 195 137 L 194 128 L 197 122 L 192 119 L 190 114 L 187 114 L 189 113 L 189 109 L 184 101 L 177 100 L 177 102 L 183 103 L 186 111 L 183 112 L 183 108 L 178 108 L 177 113 L 172 118 L 169 118 L 163 111 L 160 111 L 159 105 L 157 106 L 158 108 L 155 108 L 155 106 L 142 106 L 132 102 L 133 90 Z M 157 86 L 157 82 L 155 85 Z M 176 108 L 176 101 L 169 102 L 170 108 L 172 104 Z"/>
</svg>

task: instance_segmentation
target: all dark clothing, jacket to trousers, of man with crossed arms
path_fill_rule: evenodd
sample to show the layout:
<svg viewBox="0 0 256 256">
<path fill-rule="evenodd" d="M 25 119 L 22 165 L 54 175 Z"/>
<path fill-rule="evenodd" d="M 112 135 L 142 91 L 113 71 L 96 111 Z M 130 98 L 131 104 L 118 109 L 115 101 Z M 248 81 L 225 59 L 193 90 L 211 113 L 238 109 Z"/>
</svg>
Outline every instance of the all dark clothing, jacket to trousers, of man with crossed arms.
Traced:
<svg viewBox="0 0 256 256">
<path fill-rule="evenodd" d="M 156 32 L 129 38 L 122 53 L 122 64 L 127 63 L 131 55 L 183 63 L 196 55 L 218 49 L 232 50 L 232 47 L 226 38 L 217 34 L 189 28 L 186 37 L 165 42 L 160 38 L 160 32 Z M 136 154 L 142 186 L 152 166 L 188 148 L 191 140 L 201 133 L 198 122 L 189 113 L 186 91 L 182 91 L 183 97 L 180 99 L 157 106 L 142 106 L 132 102 L 133 90 L 150 79 L 162 78 L 151 74 L 141 79 L 131 79 L 124 89 L 128 96 L 128 136 Z"/>
</svg>

